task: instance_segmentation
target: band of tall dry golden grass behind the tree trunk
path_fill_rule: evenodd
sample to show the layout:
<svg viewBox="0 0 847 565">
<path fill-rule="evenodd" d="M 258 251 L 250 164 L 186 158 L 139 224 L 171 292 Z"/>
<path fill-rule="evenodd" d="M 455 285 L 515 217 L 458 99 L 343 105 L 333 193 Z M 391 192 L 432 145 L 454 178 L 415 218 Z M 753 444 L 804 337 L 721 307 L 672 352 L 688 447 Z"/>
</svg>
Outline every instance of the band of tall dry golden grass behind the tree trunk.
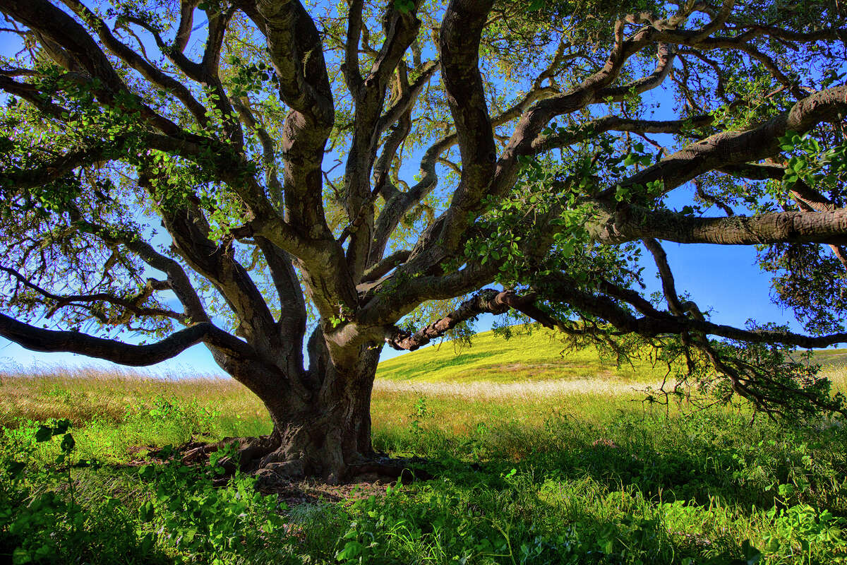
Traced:
<svg viewBox="0 0 847 565">
<path fill-rule="evenodd" d="M 234 379 L 185 376 L 134 368 L 0 369 L 0 426 L 21 420 L 68 418 L 76 426 L 119 424 L 157 402 L 192 403 L 223 420 L 269 425 L 262 402 Z M 825 368 L 833 390 L 847 392 L 847 368 Z M 484 419 L 542 425 L 553 413 L 601 423 L 621 411 L 656 413 L 666 407 L 645 402 L 656 382 L 619 379 L 548 379 L 511 383 L 377 379 L 372 413 L 374 431 L 416 420 L 451 433 Z M 669 407 L 673 412 L 678 407 Z M 685 407 L 683 407 L 685 409 Z"/>
</svg>

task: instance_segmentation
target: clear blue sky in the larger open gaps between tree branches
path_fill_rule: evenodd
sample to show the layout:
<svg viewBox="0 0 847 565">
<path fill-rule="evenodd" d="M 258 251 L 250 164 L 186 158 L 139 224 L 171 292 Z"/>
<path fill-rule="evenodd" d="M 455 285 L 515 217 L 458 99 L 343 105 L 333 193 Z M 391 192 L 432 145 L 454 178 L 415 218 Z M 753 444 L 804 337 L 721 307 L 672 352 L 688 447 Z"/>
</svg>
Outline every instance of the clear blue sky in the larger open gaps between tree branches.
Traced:
<svg viewBox="0 0 847 565">
<path fill-rule="evenodd" d="M 19 49 L 17 37 L 0 33 L 0 53 L 12 54 Z M 672 117 L 667 97 L 657 92 L 660 103 L 654 117 Z M 658 138 L 657 138 L 658 141 Z M 664 140 L 662 140 L 664 141 Z M 411 177 L 412 174 L 408 176 Z M 687 191 L 688 188 L 678 189 Z M 682 202 L 684 194 L 675 197 Z M 680 204 L 681 206 L 682 204 Z M 668 260 L 677 280 L 678 291 L 688 291 L 702 309 L 713 309 L 712 319 L 721 324 L 744 325 L 747 319 L 759 322 L 789 324 L 799 330 L 790 312 L 783 312 L 770 300 L 770 280 L 755 264 L 756 251 L 748 246 L 680 245 L 664 242 Z M 645 282 L 648 293 L 660 289 L 651 262 L 645 262 Z M 478 330 L 488 330 L 494 319 L 487 315 L 479 319 Z M 386 348 L 383 358 L 395 357 L 401 352 Z M 3 366 L 76 367 L 96 365 L 108 367 L 111 363 L 68 353 L 30 352 L 0 338 L 0 368 Z M 178 357 L 151 368 L 167 373 L 223 374 L 203 346 L 194 346 Z"/>
</svg>

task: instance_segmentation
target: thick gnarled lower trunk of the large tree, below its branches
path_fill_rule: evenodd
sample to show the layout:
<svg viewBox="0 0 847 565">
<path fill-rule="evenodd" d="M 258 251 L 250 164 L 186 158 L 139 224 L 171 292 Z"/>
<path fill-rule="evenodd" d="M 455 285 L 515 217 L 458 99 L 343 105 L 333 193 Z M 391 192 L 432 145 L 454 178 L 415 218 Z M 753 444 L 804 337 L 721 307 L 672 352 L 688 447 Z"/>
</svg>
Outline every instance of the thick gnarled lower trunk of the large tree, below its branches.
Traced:
<svg viewBox="0 0 847 565">
<path fill-rule="evenodd" d="M 254 390 L 274 433 L 242 446 L 241 465 L 268 481 L 316 476 L 337 483 L 374 463 L 370 401 L 379 348 L 363 347 L 349 367 L 333 364 L 325 347 L 315 349 L 307 395 Z"/>
</svg>

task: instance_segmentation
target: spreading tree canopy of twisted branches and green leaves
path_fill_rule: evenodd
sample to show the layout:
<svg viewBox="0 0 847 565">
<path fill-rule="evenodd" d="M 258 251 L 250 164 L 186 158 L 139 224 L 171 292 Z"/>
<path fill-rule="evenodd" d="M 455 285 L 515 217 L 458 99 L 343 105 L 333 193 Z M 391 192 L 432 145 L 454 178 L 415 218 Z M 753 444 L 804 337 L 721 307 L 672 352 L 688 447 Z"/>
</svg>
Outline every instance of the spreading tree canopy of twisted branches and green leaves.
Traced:
<svg viewBox="0 0 847 565">
<path fill-rule="evenodd" d="M 847 341 L 836 0 L 0 11 L 23 44 L 0 59 L 0 335 L 22 346 L 143 365 L 202 342 L 281 429 L 286 399 L 368 397 L 382 344 L 511 312 L 657 346 L 723 400 L 841 409 L 789 356 Z M 711 320 L 662 241 L 756 246 L 807 333 Z"/>
</svg>

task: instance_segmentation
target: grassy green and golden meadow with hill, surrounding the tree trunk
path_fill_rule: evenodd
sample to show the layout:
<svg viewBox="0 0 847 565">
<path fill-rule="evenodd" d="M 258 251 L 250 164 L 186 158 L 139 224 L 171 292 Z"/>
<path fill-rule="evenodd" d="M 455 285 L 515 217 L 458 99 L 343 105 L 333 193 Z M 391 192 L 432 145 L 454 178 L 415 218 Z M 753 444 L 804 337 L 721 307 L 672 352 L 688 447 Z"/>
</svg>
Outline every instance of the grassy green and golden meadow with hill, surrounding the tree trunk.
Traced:
<svg viewBox="0 0 847 565">
<path fill-rule="evenodd" d="M 232 380 L 0 374 L 0 563 L 847 563 L 847 431 L 645 402 L 662 371 L 482 335 L 390 359 L 374 446 L 407 485 L 292 483 L 169 446 L 257 435 Z M 847 388 L 828 352 L 825 372 Z"/>
</svg>

